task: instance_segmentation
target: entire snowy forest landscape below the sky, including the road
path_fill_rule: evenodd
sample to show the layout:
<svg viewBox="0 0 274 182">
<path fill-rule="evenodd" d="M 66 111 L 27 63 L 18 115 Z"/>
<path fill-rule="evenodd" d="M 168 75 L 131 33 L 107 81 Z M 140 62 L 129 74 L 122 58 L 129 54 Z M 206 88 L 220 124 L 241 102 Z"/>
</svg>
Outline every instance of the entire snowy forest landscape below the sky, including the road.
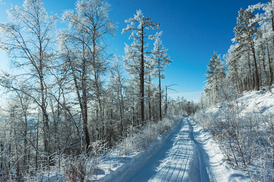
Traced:
<svg viewBox="0 0 274 182">
<path fill-rule="evenodd" d="M 195 103 L 168 96 L 178 60 L 140 9 L 120 32 L 105 0 L 61 16 L 42 0 L 12 5 L 0 23 L 0 181 L 273 181 L 274 5 L 238 10 Z M 117 34 L 123 55 L 109 49 Z"/>
</svg>

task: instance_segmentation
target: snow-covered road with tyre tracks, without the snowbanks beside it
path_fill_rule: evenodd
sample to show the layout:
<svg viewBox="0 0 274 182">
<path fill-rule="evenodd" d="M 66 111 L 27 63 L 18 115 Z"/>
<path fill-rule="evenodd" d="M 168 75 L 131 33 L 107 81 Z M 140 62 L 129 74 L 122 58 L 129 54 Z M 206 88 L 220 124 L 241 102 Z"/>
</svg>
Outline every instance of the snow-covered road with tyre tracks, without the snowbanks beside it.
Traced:
<svg viewBox="0 0 274 182">
<path fill-rule="evenodd" d="M 183 118 L 164 145 L 141 166 L 126 171 L 117 181 L 216 181 L 201 129 Z M 193 129 L 196 128 L 196 129 Z M 115 179 L 112 179 L 115 181 Z"/>
</svg>

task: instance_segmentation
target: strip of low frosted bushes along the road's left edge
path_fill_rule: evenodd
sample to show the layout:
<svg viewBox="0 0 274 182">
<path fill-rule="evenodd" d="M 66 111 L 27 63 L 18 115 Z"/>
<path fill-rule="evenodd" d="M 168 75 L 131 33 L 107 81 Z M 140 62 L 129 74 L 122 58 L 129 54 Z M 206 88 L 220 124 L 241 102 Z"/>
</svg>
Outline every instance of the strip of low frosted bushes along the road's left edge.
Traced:
<svg viewBox="0 0 274 182">
<path fill-rule="evenodd" d="M 96 141 L 91 143 L 88 151 L 77 156 L 58 153 L 47 156 L 45 154 L 45 158 L 51 158 L 51 164 L 43 164 L 44 167 L 40 167 L 39 170 L 34 164 L 29 165 L 28 171 L 23 173 L 21 178 L 33 182 L 96 180 L 99 174 L 105 173 L 102 165 L 106 161 L 111 165 L 111 162 L 117 162 L 112 161 L 117 156 L 121 159 L 138 154 L 172 128 L 180 118 L 180 116 L 168 116 L 158 122 L 148 122 L 144 126 L 129 126 L 125 131 L 125 136 L 116 142 L 113 148 L 107 148 L 105 141 Z M 6 181 L 3 177 L 5 176 L 1 176 L 0 179 Z M 12 178 L 12 176 L 6 177 Z"/>
</svg>

